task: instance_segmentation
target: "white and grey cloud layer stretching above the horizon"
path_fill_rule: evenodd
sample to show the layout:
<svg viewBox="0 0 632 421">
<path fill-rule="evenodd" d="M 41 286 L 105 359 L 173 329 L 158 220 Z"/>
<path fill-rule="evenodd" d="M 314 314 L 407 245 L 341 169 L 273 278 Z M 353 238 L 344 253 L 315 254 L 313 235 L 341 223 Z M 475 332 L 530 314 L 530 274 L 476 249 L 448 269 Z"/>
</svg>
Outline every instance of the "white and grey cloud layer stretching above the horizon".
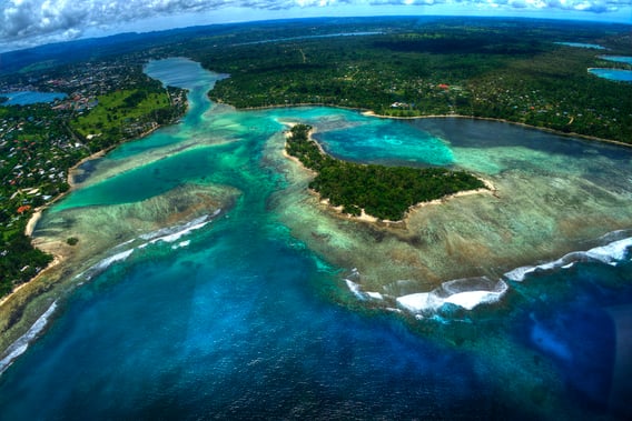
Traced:
<svg viewBox="0 0 632 421">
<path fill-rule="evenodd" d="M 480 4 L 510 10 L 557 9 L 603 13 L 630 8 L 632 0 L 0 0 L 0 44 L 28 47 L 65 41 L 81 37 L 86 30 L 182 13 L 211 13 L 229 7 L 267 11 L 327 8 L 334 14 L 335 7 L 340 4 L 365 8 Z"/>
</svg>

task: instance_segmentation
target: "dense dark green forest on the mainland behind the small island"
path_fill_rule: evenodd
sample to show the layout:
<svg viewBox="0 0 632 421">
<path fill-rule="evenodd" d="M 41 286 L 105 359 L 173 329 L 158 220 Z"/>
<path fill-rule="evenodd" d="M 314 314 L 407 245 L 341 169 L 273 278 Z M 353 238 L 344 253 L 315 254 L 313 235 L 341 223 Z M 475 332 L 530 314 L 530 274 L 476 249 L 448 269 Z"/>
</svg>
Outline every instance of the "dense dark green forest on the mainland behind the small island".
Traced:
<svg viewBox="0 0 632 421">
<path fill-rule="evenodd" d="M 362 36 L 225 41 L 208 37 L 181 48 L 230 74 L 210 97 L 237 108 L 312 103 L 393 117 L 461 114 L 632 142 L 632 83 L 587 72 L 632 67 L 600 59 L 603 50 L 556 43 L 592 42 L 609 54 L 632 54 L 631 27 L 402 18 L 399 26 Z"/>
</svg>

